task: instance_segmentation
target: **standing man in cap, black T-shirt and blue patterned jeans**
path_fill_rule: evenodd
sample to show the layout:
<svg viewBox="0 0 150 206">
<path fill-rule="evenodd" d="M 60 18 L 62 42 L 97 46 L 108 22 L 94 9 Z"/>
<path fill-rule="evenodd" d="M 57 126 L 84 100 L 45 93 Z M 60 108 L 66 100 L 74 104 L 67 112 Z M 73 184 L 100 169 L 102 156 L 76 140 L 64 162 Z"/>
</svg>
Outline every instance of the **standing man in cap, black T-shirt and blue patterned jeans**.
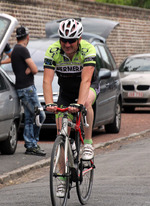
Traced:
<svg viewBox="0 0 150 206">
<path fill-rule="evenodd" d="M 16 30 L 17 44 L 12 54 L 11 62 L 16 76 L 15 87 L 17 94 L 24 107 L 24 133 L 25 154 L 44 156 L 46 153 L 40 149 L 39 141 L 40 127 L 34 124 L 34 108 L 41 107 L 34 85 L 34 75 L 38 72 L 37 66 L 31 59 L 26 48 L 29 42 L 28 29 L 21 26 Z M 44 122 L 45 113 L 40 112 L 40 122 Z"/>
</svg>

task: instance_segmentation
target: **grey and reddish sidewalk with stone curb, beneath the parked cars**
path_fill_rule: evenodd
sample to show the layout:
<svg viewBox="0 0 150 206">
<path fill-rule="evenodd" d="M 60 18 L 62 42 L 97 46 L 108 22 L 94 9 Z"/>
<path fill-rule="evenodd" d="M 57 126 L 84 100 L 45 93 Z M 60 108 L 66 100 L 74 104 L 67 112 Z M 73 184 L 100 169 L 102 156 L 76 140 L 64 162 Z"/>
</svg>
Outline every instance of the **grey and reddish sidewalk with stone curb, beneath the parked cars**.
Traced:
<svg viewBox="0 0 150 206">
<path fill-rule="evenodd" d="M 93 131 L 93 142 L 95 147 L 103 146 L 118 140 L 118 138 L 130 138 L 139 136 L 141 133 L 150 131 L 150 108 L 142 108 L 133 114 L 122 113 L 122 125 L 118 134 L 106 134 L 103 129 Z M 31 169 L 37 169 L 49 164 L 50 154 L 56 132 L 42 131 L 40 146 L 47 155 L 46 157 L 25 155 L 24 141 L 18 142 L 14 155 L 0 155 L 0 184 L 11 181 Z M 20 138 L 21 139 L 21 138 Z"/>
</svg>

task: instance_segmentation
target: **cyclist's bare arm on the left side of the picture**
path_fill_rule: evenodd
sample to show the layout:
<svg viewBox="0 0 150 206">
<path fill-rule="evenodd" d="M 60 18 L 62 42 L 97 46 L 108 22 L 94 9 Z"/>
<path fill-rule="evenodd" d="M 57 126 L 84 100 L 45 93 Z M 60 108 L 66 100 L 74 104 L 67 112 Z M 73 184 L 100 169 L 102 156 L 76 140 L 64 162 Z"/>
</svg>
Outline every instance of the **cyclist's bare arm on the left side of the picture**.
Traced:
<svg viewBox="0 0 150 206">
<path fill-rule="evenodd" d="M 55 71 L 53 69 L 44 69 L 44 78 L 43 78 L 43 92 L 45 104 L 53 103 L 53 90 L 52 82 L 54 78 Z"/>
</svg>

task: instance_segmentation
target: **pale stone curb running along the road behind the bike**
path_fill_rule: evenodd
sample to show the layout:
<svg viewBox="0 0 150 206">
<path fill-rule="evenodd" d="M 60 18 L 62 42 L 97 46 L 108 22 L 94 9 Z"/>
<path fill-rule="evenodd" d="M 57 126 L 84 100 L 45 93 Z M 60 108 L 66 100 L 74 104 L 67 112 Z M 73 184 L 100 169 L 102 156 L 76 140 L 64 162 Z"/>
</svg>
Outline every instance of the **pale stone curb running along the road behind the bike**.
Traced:
<svg viewBox="0 0 150 206">
<path fill-rule="evenodd" d="M 121 138 L 114 139 L 114 140 L 111 140 L 111 141 L 108 141 L 108 142 L 95 144 L 94 148 L 95 149 L 104 148 L 104 147 L 107 147 L 108 145 L 111 145 L 113 143 L 121 142 L 121 141 L 130 139 L 130 138 L 135 138 L 137 136 L 141 136 L 141 135 L 146 134 L 148 132 L 150 132 L 150 129 L 139 132 L 139 133 L 133 133 L 129 136 L 121 137 Z M 50 164 L 50 158 L 47 158 L 47 159 L 37 161 L 34 164 L 23 166 L 23 167 L 20 167 L 19 169 L 16 169 L 16 170 L 13 170 L 13 171 L 8 172 L 6 174 L 0 175 L 0 184 L 6 184 L 8 182 L 11 182 L 14 179 L 22 177 L 23 175 L 27 174 L 31 170 L 39 169 L 39 168 L 48 166 L 49 164 Z"/>
</svg>

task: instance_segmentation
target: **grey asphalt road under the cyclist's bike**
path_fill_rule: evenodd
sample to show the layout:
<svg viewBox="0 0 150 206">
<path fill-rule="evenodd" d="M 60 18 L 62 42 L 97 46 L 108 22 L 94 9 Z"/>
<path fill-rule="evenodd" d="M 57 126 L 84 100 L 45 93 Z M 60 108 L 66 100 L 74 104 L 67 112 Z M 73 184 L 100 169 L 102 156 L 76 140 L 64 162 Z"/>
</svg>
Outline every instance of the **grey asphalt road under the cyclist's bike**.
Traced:
<svg viewBox="0 0 150 206">
<path fill-rule="evenodd" d="M 95 156 L 94 185 L 87 206 L 150 205 L 149 138 Z M 31 173 L 24 183 L 1 188 L 0 205 L 51 206 L 49 168 L 43 169 L 39 174 Z M 67 205 L 80 205 L 75 189 Z"/>
</svg>

